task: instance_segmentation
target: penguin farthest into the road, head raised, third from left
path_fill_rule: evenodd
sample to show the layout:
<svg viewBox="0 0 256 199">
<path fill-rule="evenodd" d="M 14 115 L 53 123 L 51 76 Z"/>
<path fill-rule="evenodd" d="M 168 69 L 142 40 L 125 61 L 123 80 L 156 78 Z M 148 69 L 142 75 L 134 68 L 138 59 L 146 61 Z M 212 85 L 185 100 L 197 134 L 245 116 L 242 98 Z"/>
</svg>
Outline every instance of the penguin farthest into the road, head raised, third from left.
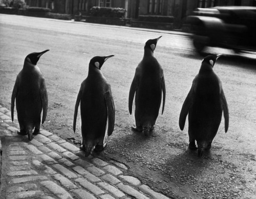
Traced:
<svg viewBox="0 0 256 199">
<path fill-rule="evenodd" d="M 154 129 L 163 93 L 162 114 L 165 104 L 165 81 L 163 69 L 154 57 L 158 40 L 147 40 L 144 55 L 139 62 L 129 93 L 129 112 L 134 114 L 135 131 L 143 131 L 145 136 Z M 133 109 L 133 110 L 132 110 Z"/>
</svg>

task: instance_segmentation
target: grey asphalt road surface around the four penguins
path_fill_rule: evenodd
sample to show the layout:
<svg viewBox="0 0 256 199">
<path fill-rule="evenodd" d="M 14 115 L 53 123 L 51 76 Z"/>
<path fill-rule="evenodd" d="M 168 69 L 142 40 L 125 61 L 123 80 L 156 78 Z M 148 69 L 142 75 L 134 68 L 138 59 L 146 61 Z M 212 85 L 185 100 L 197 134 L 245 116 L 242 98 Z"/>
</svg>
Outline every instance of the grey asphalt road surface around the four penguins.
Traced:
<svg viewBox="0 0 256 199">
<path fill-rule="evenodd" d="M 147 39 L 162 35 L 155 50 L 166 83 L 166 102 L 149 138 L 131 130 L 128 110 L 130 85 Z M 190 38 L 180 33 L 104 26 L 72 21 L 0 14 L 0 103 L 10 107 L 16 75 L 31 52 L 50 49 L 38 61 L 46 78 L 49 112 L 43 128 L 77 144 L 80 128 L 72 130 L 80 83 L 94 56 L 114 54 L 102 67 L 112 86 L 115 129 L 99 154 L 129 167 L 129 174 L 174 198 L 256 197 L 256 56 L 225 53 L 214 70 L 223 84 L 229 107 L 229 129 L 224 118 L 209 152 L 202 158 L 187 149 L 187 123 L 181 131 L 181 106 L 203 57 L 195 54 Z M 77 127 L 80 123 L 78 116 Z"/>
</svg>

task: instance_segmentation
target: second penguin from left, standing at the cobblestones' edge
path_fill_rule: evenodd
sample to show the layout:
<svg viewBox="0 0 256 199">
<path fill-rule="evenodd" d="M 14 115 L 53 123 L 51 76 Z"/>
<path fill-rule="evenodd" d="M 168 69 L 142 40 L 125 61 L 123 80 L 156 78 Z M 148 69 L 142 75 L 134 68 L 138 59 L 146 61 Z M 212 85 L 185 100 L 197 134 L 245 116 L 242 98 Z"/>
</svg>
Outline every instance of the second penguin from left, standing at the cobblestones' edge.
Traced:
<svg viewBox="0 0 256 199">
<path fill-rule="evenodd" d="M 115 105 L 111 86 L 101 72 L 103 63 L 114 55 L 96 56 L 90 60 L 87 78 L 81 83 L 74 112 L 73 130 L 80 103 L 81 149 L 88 157 L 91 151 L 102 151 L 106 135 L 111 136 L 115 124 Z"/>
</svg>

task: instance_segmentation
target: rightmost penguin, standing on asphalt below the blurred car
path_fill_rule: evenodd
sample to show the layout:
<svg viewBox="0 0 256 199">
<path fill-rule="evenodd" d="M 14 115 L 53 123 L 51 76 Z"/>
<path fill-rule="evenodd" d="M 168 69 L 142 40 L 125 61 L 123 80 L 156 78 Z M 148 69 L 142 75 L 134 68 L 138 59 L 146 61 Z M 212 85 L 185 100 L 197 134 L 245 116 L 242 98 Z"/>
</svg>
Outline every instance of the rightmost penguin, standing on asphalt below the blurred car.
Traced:
<svg viewBox="0 0 256 199">
<path fill-rule="evenodd" d="M 197 149 L 195 143 L 197 141 L 199 157 L 205 149 L 210 149 L 221 123 L 222 112 L 225 119 L 225 132 L 228 130 L 228 105 L 221 80 L 213 70 L 220 56 L 221 54 L 208 55 L 203 59 L 179 117 L 179 126 L 183 130 L 188 114 L 188 147 Z"/>
</svg>

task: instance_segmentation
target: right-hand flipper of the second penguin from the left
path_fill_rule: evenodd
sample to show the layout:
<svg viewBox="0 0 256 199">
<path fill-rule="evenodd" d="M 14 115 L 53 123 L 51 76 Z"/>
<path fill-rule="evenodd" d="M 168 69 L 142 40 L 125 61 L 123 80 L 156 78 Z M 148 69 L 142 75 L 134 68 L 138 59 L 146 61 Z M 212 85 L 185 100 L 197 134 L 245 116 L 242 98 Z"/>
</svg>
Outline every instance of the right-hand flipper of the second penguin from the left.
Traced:
<svg viewBox="0 0 256 199">
<path fill-rule="evenodd" d="M 111 136 L 114 130 L 114 125 L 115 125 L 115 104 L 114 104 L 111 91 L 105 92 L 104 97 L 105 97 L 106 108 L 108 110 L 108 119 L 109 119 L 108 136 Z"/>
</svg>

